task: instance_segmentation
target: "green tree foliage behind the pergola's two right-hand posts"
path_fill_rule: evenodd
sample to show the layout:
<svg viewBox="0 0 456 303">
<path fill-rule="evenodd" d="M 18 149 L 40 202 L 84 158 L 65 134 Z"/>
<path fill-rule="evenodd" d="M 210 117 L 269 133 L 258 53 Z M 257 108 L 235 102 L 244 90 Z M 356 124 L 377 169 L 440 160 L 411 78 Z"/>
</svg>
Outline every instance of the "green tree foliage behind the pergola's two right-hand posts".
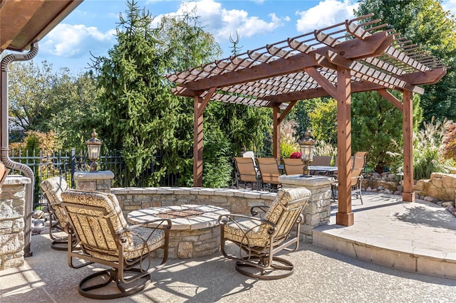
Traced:
<svg viewBox="0 0 456 303">
<path fill-rule="evenodd" d="M 398 92 L 395 97 L 401 99 Z M 413 97 L 414 129 L 422 119 L 420 98 Z M 379 174 L 393 163 L 388 151 L 397 149 L 403 142 L 403 114 L 378 92 L 359 92 L 351 98 L 352 151 L 368 151 L 368 164 Z"/>
</svg>

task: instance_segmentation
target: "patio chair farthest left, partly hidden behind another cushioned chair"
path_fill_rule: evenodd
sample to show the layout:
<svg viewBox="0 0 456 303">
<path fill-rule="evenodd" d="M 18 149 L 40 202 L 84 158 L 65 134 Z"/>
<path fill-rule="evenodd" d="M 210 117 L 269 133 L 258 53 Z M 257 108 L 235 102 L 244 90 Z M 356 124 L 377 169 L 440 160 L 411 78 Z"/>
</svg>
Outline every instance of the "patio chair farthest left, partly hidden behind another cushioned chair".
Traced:
<svg viewBox="0 0 456 303">
<path fill-rule="evenodd" d="M 63 209 L 61 193 L 68 190 L 68 185 L 65 179 L 61 176 L 56 176 L 50 179 L 46 179 L 40 184 L 43 190 L 43 195 L 48 201 L 48 213 L 49 213 L 49 237 L 52 240 L 51 248 L 54 250 L 68 250 L 68 235 L 56 236 L 55 232 L 65 231 L 66 223 L 68 218 L 65 210 Z M 56 224 L 53 224 L 54 220 Z M 72 243 L 76 245 L 76 243 Z"/>
</svg>

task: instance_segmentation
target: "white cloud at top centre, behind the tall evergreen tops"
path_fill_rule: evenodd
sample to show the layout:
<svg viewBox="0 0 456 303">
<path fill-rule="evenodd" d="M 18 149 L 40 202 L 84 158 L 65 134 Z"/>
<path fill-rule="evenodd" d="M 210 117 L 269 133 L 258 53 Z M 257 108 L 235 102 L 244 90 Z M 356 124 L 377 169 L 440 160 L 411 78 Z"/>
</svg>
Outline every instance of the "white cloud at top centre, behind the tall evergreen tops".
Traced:
<svg viewBox="0 0 456 303">
<path fill-rule="evenodd" d="M 257 1 L 261 3 L 262 1 Z M 250 16 L 243 9 L 227 10 L 222 4 L 214 0 L 190 1 L 182 4 L 176 13 L 170 15 L 182 15 L 183 12 L 196 11 L 199 21 L 207 31 L 212 33 L 218 41 L 228 41 L 229 35 L 239 33 L 243 38 L 249 38 L 258 34 L 267 34 L 274 29 L 284 26 L 290 21 L 288 16 L 279 17 L 269 14 L 269 19 L 264 20 L 258 16 Z M 159 21 L 157 16 L 155 21 Z"/>
</svg>

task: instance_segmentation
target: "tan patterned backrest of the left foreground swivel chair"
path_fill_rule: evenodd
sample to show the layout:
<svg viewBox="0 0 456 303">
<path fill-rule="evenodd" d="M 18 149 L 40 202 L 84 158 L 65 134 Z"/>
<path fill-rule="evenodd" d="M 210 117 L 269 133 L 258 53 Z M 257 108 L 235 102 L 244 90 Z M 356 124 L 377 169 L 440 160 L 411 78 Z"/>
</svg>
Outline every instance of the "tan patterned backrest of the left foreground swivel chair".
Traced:
<svg viewBox="0 0 456 303">
<path fill-rule="evenodd" d="M 122 234 L 127 246 L 133 243 L 133 236 L 125 232 L 128 224 L 112 193 L 68 189 L 61 196 L 68 221 L 84 252 L 113 261 L 118 259 L 116 237 Z"/>
</svg>

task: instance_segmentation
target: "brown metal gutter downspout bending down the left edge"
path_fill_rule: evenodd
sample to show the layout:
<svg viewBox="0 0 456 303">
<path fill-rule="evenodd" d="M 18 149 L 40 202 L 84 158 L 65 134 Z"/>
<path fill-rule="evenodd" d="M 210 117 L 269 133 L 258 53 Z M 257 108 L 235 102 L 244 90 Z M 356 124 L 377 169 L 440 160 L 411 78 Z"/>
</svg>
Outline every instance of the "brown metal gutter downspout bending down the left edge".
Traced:
<svg viewBox="0 0 456 303">
<path fill-rule="evenodd" d="M 0 160 L 6 167 L 22 171 L 24 176 L 31 179 L 26 189 L 26 206 L 24 210 L 24 257 L 31 257 L 33 252 L 30 251 L 31 243 L 31 212 L 33 206 L 33 189 L 35 187 L 35 178 L 30 167 L 19 162 L 12 161 L 9 158 L 9 98 L 8 98 L 8 71 L 9 64 L 14 61 L 31 60 L 38 53 L 38 42 L 31 45 L 30 51 L 26 54 L 10 54 L 1 60 L 0 74 L 0 124 L 1 124 L 1 154 Z"/>
</svg>

